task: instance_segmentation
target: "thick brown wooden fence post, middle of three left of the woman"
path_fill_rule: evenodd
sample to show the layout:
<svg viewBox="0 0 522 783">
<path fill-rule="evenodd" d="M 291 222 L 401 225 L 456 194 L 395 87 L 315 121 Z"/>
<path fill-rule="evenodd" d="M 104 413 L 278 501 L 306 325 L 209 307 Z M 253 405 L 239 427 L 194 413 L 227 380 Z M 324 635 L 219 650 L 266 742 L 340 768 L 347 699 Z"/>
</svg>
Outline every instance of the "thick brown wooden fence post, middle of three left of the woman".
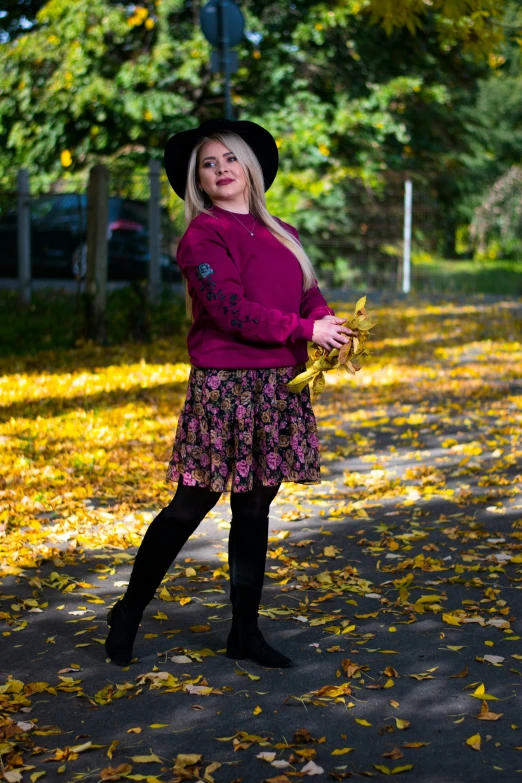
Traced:
<svg viewBox="0 0 522 783">
<path fill-rule="evenodd" d="M 107 342 L 107 240 L 109 229 L 109 172 L 101 164 L 89 172 L 87 192 L 87 271 L 85 321 L 87 337 Z"/>
</svg>

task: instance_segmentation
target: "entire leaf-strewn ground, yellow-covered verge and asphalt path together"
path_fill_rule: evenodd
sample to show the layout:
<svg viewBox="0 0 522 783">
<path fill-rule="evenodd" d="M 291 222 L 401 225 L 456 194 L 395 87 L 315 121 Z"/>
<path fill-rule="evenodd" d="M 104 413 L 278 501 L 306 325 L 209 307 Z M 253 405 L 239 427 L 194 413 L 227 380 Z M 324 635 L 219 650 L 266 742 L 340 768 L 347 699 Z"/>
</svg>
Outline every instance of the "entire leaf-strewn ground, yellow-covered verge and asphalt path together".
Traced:
<svg viewBox="0 0 522 783">
<path fill-rule="evenodd" d="M 323 484 L 272 506 L 261 624 L 298 664 L 281 672 L 223 655 L 226 495 L 138 660 L 105 661 L 107 609 L 173 491 L 183 335 L 2 360 L 5 780 L 522 775 L 522 303 L 375 316 L 374 356 L 315 404 Z"/>
</svg>

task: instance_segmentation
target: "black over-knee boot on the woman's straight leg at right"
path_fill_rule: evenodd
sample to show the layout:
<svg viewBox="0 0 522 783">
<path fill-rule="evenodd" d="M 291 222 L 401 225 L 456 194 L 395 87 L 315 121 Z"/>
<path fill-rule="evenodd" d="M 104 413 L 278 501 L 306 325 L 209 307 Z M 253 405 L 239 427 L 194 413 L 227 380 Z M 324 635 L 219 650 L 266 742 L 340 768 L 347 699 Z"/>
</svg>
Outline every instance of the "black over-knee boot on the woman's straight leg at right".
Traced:
<svg viewBox="0 0 522 783">
<path fill-rule="evenodd" d="M 252 490 L 268 505 L 271 490 L 277 488 L 262 487 Z M 250 495 L 250 493 L 244 493 Z M 275 496 L 275 494 L 273 496 Z M 240 506 L 232 516 L 229 535 L 229 575 L 230 600 L 232 602 L 232 627 L 227 640 L 228 658 L 242 660 L 248 658 L 261 666 L 288 668 L 292 661 L 286 655 L 271 647 L 258 627 L 258 611 L 263 590 L 266 551 L 268 545 L 268 514 L 265 508 L 256 509 L 256 503 L 245 502 L 246 498 L 235 502 Z M 231 500 L 231 505 L 234 501 Z M 250 505 L 250 513 L 245 507 Z M 258 513 L 256 513 L 256 511 Z M 261 511 L 261 513 L 259 513 Z"/>
</svg>

